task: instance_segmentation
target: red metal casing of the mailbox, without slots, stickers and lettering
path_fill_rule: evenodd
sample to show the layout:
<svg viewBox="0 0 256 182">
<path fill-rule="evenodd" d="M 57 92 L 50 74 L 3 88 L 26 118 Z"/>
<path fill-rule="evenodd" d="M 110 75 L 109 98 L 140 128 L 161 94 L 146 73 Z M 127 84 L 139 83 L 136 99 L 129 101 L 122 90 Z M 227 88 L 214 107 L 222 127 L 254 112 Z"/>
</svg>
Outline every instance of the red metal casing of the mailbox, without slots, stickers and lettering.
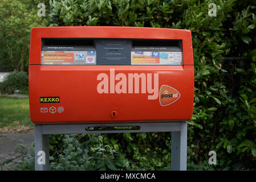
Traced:
<svg viewBox="0 0 256 182">
<path fill-rule="evenodd" d="M 182 39 L 185 65 L 40 65 L 41 38 Z M 127 86 L 127 93 L 117 93 L 120 91 L 117 86 L 120 80 L 115 80 L 115 77 L 120 73 L 127 78 L 126 84 L 123 82 Z M 147 78 L 144 85 L 140 80 L 139 93 L 135 93 L 135 81 L 133 89 L 129 88 L 129 74 L 134 73 L 142 73 Z M 108 93 L 99 93 L 97 89 L 103 80 L 97 79 L 100 74 L 108 77 Z M 155 83 L 154 74 L 158 76 L 158 93 L 157 98 L 155 95 L 153 99 L 149 99 L 153 93 L 148 87 Z M 162 87 L 165 90 L 160 90 L 163 85 L 167 85 Z M 128 93 L 129 89 L 132 93 Z M 162 96 L 164 92 L 173 97 L 168 98 L 166 94 L 165 98 Z M 188 120 L 192 117 L 194 97 L 191 33 L 188 30 L 140 27 L 32 28 L 29 93 L 30 115 L 34 123 Z M 40 103 L 40 97 L 59 97 L 60 102 Z M 49 111 L 50 107 L 53 109 L 52 113 Z M 47 108 L 48 112 L 41 113 L 41 108 Z M 112 115 L 113 111 L 117 113 L 115 117 Z"/>
</svg>

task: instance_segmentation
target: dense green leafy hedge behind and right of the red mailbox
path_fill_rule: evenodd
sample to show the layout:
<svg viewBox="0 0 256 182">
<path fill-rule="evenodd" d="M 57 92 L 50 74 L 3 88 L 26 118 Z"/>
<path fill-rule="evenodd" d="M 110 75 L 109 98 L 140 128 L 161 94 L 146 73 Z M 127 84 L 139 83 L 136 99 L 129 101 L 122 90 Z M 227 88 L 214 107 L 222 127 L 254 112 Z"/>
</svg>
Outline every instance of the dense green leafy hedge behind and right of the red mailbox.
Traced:
<svg viewBox="0 0 256 182">
<path fill-rule="evenodd" d="M 208 15 L 212 2 L 217 5 L 217 16 Z M 188 121 L 188 169 L 256 169 L 255 3 L 247 0 L 50 1 L 52 14 L 48 19 L 50 26 L 137 26 L 192 31 L 195 88 L 193 117 Z M 53 15 L 59 15 L 58 23 Z M 170 167 L 169 133 L 96 136 L 53 135 L 52 165 L 56 167 L 59 163 L 59 169 Z M 86 147 L 87 140 L 90 144 Z M 94 156 L 96 150 L 104 156 Z M 217 152 L 217 165 L 208 164 L 211 150 Z M 112 151 L 117 153 L 112 155 Z M 84 164 L 80 160 L 86 156 L 77 158 L 77 155 L 94 156 L 90 160 L 94 163 Z"/>
</svg>

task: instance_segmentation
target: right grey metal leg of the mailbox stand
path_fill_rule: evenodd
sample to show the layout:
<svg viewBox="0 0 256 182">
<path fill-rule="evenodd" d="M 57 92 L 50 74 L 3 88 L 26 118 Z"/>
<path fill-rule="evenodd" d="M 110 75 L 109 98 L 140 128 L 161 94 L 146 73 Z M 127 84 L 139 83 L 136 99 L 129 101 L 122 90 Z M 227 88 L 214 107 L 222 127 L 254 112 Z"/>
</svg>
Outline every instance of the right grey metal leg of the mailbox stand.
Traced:
<svg viewBox="0 0 256 182">
<path fill-rule="evenodd" d="M 180 131 L 171 134 L 171 161 L 172 171 L 186 171 L 187 159 L 187 122 L 182 122 Z"/>
</svg>

